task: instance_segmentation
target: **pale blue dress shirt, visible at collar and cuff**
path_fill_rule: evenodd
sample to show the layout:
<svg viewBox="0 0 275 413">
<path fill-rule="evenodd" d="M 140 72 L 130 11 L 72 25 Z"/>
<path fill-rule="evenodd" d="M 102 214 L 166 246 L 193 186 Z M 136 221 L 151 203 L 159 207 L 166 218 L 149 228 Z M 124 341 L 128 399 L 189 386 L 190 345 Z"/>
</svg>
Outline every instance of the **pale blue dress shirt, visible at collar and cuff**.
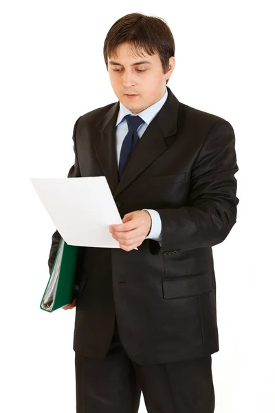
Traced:
<svg viewBox="0 0 275 413">
<path fill-rule="evenodd" d="M 120 109 L 118 111 L 118 118 L 116 121 L 116 130 L 115 130 L 115 147 L 116 147 L 116 155 L 117 155 L 117 160 L 119 162 L 120 159 L 120 151 L 122 147 L 122 142 L 128 133 L 128 125 L 126 122 L 126 119 L 124 116 L 126 115 L 133 115 L 133 116 L 140 116 L 142 120 L 144 120 L 144 123 L 140 125 L 140 127 L 137 128 L 137 135 L 139 138 L 142 137 L 144 134 L 144 131 L 146 131 L 146 128 L 148 127 L 149 123 L 153 118 L 155 118 L 157 112 L 162 108 L 164 105 L 166 99 L 168 96 L 167 92 L 167 87 L 165 89 L 164 96 L 162 96 L 161 99 L 157 100 L 156 103 L 153 105 L 147 107 L 144 109 L 142 112 L 139 114 L 133 114 L 131 110 L 127 109 L 121 102 L 120 102 Z M 151 231 L 148 233 L 146 238 L 151 238 L 151 240 L 155 240 L 159 242 L 161 245 L 162 241 L 162 221 L 160 220 L 159 213 L 155 211 L 155 209 L 144 209 L 143 211 L 148 211 L 150 213 L 151 218 L 152 218 L 152 226 L 151 226 Z"/>
</svg>

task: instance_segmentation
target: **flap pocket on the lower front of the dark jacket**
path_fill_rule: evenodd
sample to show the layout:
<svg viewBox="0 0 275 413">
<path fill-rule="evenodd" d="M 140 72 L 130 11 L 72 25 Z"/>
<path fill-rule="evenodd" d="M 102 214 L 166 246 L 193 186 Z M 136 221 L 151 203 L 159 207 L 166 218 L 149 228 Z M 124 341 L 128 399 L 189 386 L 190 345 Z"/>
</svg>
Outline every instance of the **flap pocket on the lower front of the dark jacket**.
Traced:
<svg viewBox="0 0 275 413">
<path fill-rule="evenodd" d="M 176 279 L 162 279 L 164 299 L 191 297 L 210 293 L 212 290 L 208 273 L 190 275 Z"/>
</svg>

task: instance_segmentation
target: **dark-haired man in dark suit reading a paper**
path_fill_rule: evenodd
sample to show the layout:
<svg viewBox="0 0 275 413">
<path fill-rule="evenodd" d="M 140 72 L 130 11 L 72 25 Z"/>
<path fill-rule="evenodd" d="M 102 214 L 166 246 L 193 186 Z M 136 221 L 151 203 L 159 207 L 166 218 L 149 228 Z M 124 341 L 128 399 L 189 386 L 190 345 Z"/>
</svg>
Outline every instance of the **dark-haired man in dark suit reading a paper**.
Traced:
<svg viewBox="0 0 275 413">
<path fill-rule="evenodd" d="M 116 21 L 104 59 L 119 101 L 74 126 L 69 177 L 106 176 L 122 217 L 110 225 L 120 248 L 80 248 L 78 292 L 64 307 L 76 305 L 78 413 L 135 413 L 141 391 L 149 413 L 214 412 L 211 247 L 236 222 L 234 131 L 179 103 L 166 86 L 174 54 L 162 19 Z"/>
</svg>

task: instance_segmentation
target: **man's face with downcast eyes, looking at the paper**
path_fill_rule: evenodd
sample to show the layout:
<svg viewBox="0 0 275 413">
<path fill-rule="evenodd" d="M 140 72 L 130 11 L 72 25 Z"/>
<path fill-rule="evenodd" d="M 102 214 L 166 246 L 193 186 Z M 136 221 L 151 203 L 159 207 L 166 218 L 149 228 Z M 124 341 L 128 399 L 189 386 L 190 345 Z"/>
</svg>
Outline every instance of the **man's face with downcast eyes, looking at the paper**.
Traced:
<svg viewBox="0 0 275 413">
<path fill-rule="evenodd" d="M 164 96 L 166 79 L 175 67 L 175 58 L 169 59 L 168 72 L 164 74 L 159 55 L 133 54 L 129 43 L 118 45 L 117 56 L 108 57 L 108 72 L 113 92 L 118 100 L 133 114 L 138 114 Z M 133 94 L 135 96 L 127 96 Z"/>
</svg>

